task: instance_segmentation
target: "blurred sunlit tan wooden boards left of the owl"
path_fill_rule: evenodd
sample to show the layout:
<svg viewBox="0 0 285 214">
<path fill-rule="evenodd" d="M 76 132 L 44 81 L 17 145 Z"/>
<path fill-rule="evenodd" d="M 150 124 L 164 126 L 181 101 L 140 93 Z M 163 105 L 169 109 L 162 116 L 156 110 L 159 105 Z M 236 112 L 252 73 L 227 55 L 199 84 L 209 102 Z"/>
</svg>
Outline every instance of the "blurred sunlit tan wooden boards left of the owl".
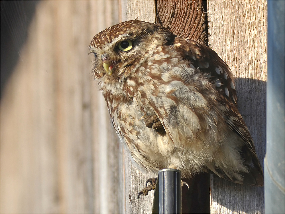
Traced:
<svg viewBox="0 0 285 214">
<path fill-rule="evenodd" d="M 37 4 L 1 100 L 1 212 L 122 211 L 121 143 L 88 56 L 118 14 L 117 1 Z"/>
</svg>

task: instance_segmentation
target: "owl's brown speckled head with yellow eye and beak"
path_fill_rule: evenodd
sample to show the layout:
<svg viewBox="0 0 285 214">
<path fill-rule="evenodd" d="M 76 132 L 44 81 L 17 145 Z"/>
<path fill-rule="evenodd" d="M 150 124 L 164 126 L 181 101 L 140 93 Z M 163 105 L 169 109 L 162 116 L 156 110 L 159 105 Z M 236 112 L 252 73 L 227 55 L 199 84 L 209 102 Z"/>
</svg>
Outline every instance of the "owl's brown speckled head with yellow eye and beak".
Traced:
<svg viewBox="0 0 285 214">
<path fill-rule="evenodd" d="M 175 35 L 166 28 L 138 20 L 113 25 L 92 39 L 95 78 L 116 79 L 136 70 L 156 47 L 171 43 Z"/>
</svg>

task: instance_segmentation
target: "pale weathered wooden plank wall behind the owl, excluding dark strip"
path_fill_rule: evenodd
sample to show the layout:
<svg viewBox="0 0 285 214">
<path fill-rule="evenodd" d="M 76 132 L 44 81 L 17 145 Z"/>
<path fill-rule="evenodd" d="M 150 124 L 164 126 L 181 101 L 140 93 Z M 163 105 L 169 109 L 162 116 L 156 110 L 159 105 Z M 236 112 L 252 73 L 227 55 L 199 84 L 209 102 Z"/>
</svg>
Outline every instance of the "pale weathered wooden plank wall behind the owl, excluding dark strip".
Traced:
<svg viewBox="0 0 285 214">
<path fill-rule="evenodd" d="M 238 105 L 265 155 L 266 1 L 208 1 L 209 44 L 233 70 Z M 154 1 L 43 1 L 1 99 L 1 213 L 150 213 L 92 80 L 88 45 Z M 212 213 L 262 213 L 263 188 L 211 179 Z"/>
</svg>

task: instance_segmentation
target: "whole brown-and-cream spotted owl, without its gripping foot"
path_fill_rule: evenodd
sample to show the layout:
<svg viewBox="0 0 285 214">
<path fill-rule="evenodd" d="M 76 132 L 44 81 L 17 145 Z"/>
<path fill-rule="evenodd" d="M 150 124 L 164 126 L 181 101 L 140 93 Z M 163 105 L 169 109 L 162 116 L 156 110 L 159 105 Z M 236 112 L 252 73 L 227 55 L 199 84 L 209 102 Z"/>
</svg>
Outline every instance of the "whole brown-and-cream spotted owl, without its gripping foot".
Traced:
<svg viewBox="0 0 285 214">
<path fill-rule="evenodd" d="M 263 185 L 233 74 L 213 50 L 137 20 L 98 33 L 90 50 L 111 122 L 141 167 Z"/>
</svg>

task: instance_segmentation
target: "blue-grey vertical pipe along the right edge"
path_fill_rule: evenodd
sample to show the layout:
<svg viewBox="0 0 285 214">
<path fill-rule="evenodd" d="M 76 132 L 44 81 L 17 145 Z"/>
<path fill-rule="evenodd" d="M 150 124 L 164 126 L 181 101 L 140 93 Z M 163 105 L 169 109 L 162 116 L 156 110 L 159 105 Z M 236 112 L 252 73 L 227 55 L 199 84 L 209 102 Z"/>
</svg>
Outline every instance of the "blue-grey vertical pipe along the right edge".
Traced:
<svg viewBox="0 0 285 214">
<path fill-rule="evenodd" d="M 267 3 L 265 213 L 284 213 L 284 1 Z"/>
</svg>

